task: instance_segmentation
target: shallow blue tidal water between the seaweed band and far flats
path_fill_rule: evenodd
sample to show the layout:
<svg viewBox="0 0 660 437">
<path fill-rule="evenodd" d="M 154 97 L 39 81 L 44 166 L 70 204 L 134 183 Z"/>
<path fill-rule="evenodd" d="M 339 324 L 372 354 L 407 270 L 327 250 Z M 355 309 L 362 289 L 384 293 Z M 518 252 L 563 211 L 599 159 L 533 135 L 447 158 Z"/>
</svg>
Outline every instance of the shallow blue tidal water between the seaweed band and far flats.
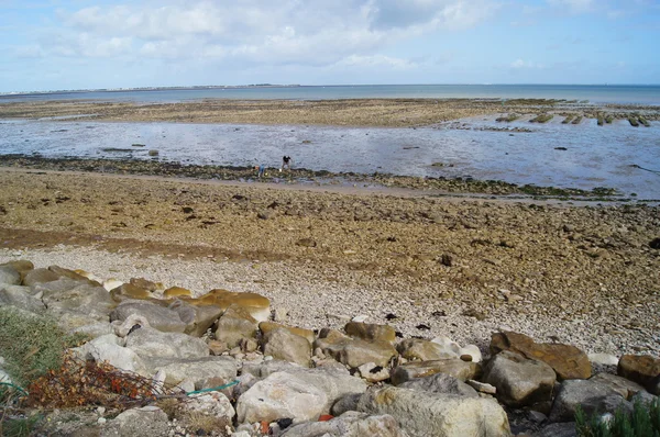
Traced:
<svg viewBox="0 0 660 437">
<path fill-rule="evenodd" d="M 528 119 L 509 124 L 475 117 L 424 128 L 355 128 L 230 124 L 107 123 L 92 121 L 0 121 L 0 154 L 44 157 L 156 159 L 184 164 L 279 167 L 333 172 L 374 171 L 429 177 L 473 177 L 591 190 L 616 188 L 638 199 L 660 199 L 660 124 L 627 121 L 597 126 L 547 124 Z M 530 133 L 481 131 L 525 127 Z M 513 134 L 513 135 L 512 135 Z M 307 143 L 309 142 L 309 143 Z M 132 147 L 134 143 L 146 147 Z M 566 150 L 557 150 L 565 147 Z M 107 148 L 130 152 L 103 152 Z M 442 167 L 432 166 L 442 163 Z"/>
</svg>

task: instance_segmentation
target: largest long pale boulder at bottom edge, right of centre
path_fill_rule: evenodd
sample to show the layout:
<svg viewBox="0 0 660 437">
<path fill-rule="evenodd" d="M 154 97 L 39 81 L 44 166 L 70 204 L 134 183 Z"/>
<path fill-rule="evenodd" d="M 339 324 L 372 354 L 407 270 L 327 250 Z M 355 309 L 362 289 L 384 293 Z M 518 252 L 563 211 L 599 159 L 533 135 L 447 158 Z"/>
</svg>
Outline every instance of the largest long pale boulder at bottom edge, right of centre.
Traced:
<svg viewBox="0 0 660 437">
<path fill-rule="evenodd" d="M 414 436 L 510 436 L 507 415 L 493 399 L 387 386 L 363 394 L 358 410 L 389 414 Z"/>
</svg>

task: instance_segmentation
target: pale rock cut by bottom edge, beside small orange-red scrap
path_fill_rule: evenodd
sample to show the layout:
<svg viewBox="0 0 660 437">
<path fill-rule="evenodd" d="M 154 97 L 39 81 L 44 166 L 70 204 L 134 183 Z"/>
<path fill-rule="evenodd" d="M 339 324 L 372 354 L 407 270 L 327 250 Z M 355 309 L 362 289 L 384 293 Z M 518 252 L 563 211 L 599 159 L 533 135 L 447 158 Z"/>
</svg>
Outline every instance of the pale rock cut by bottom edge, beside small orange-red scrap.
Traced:
<svg viewBox="0 0 660 437">
<path fill-rule="evenodd" d="M 293 425 L 282 437 L 405 437 L 396 419 L 387 414 L 371 416 L 348 412 L 328 422 Z"/>
</svg>

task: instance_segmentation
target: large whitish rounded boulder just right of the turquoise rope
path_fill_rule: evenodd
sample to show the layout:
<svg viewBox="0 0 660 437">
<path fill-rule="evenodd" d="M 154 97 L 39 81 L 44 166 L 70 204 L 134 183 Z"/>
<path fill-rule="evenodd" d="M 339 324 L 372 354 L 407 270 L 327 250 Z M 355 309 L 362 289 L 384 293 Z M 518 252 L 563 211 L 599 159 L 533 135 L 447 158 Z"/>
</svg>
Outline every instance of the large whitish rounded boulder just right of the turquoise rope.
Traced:
<svg viewBox="0 0 660 437">
<path fill-rule="evenodd" d="M 295 423 L 316 421 L 328 402 L 326 393 L 297 378 L 277 372 L 252 385 L 237 404 L 239 423 L 292 418 Z"/>
</svg>

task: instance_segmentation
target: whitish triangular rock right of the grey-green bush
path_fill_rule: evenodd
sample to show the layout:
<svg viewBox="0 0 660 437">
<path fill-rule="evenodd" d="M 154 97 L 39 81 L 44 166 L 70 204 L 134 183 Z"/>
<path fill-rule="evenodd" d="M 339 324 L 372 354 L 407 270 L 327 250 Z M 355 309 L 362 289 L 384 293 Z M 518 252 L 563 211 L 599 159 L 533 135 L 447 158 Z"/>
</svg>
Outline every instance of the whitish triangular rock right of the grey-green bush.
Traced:
<svg viewBox="0 0 660 437">
<path fill-rule="evenodd" d="M 118 369 L 148 376 L 144 361 L 133 350 L 122 346 L 122 339 L 113 334 L 95 338 L 74 349 L 84 359 L 107 361 Z"/>
</svg>

